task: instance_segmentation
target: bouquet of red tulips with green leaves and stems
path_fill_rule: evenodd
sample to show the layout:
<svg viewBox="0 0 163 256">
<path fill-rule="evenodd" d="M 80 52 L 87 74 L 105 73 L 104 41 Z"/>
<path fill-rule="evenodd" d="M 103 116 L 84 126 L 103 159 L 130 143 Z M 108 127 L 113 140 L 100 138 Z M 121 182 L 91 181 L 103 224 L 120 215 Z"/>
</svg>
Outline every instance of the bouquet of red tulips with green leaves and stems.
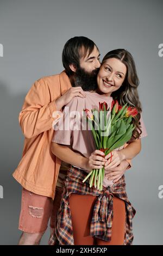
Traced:
<svg viewBox="0 0 163 256">
<path fill-rule="evenodd" d="M 135 126 L 131 123 L 132 117 L 137 114 L 136 108 L 128 107 L 127 103 L 122 107 L 118 105 L 117 100 L 112 101 L 110 111 L 109 109 L 106 102 L 99 102 L 99 111 L 96 109 L 91 111 L 84 109 L 93 138 L 95 139 L 96 149 L 103 151 L 105 155 L 108 155 L 112 150 L 121 147 L 130 140 L 135 129 Z M 102 191 L 104 167 L 91 170 L 83 182 L 88 178 L 90 178 L 90 187 L 94 185 L 97 190 Z"/>
</svg>

